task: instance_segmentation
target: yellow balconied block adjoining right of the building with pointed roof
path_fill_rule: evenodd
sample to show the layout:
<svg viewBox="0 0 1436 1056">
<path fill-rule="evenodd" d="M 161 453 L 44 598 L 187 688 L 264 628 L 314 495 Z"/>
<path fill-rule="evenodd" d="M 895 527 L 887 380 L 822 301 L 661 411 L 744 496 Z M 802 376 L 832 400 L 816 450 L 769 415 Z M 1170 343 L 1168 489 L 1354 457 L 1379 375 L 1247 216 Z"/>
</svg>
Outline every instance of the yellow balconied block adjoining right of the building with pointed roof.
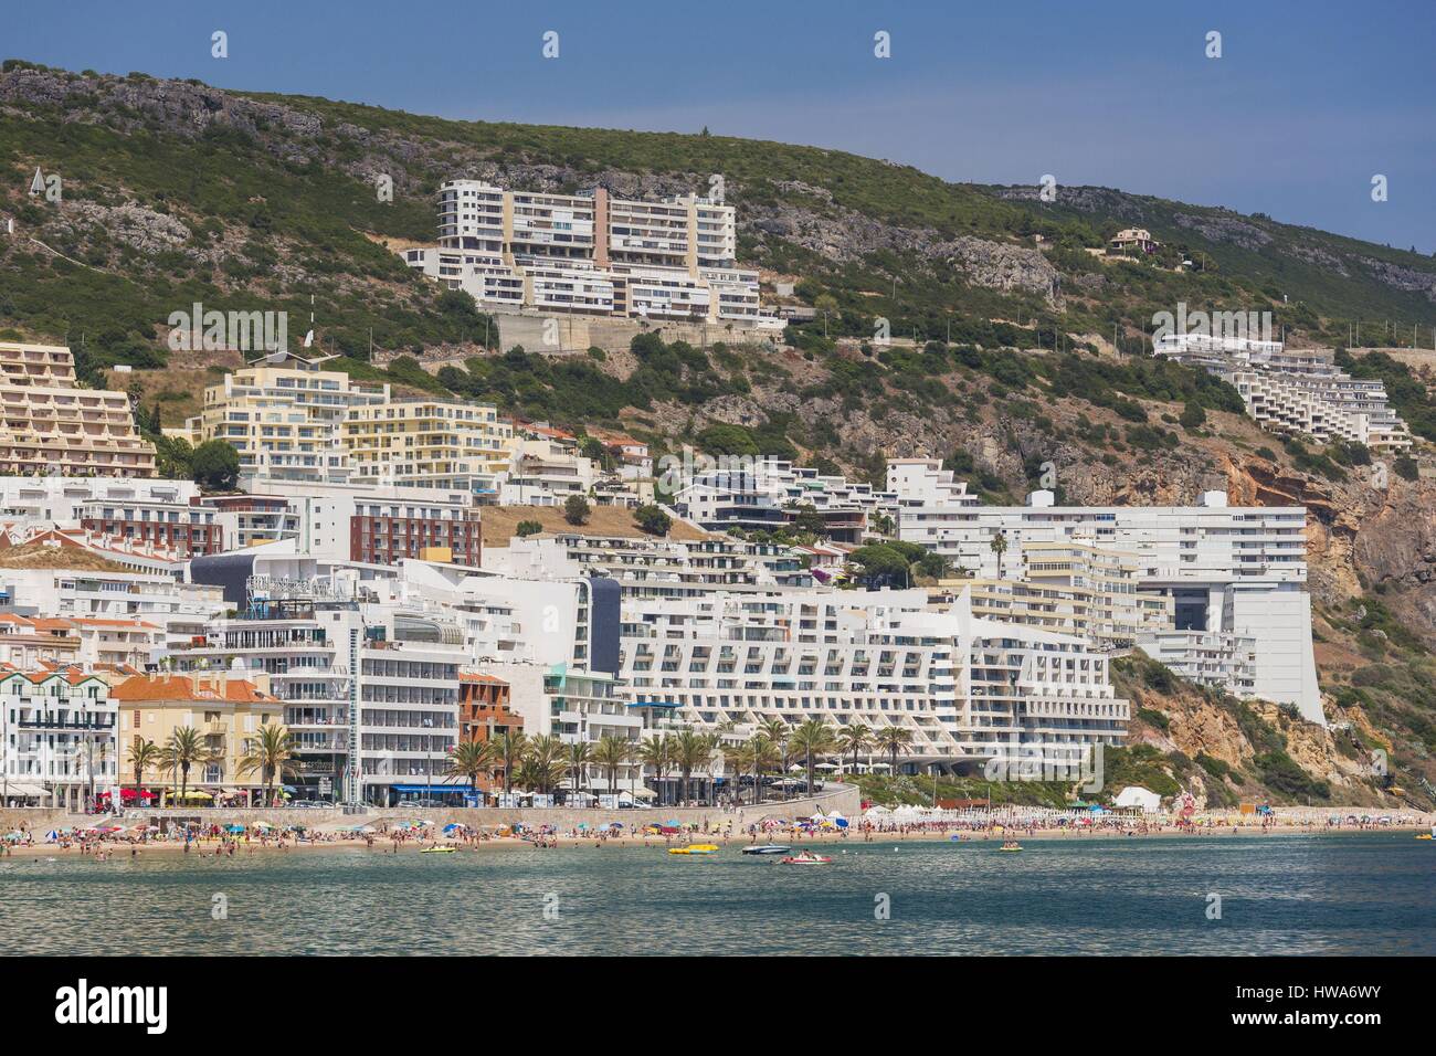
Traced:
<svg viewBox="0 0 1436 1056">
<path fill-rule="evenodd" d="M 513 444 L 493 404 L 391 399 L 350 408 L 343 427 L 350 480 L 365 484 L 493 490 Z"/>
</svg>

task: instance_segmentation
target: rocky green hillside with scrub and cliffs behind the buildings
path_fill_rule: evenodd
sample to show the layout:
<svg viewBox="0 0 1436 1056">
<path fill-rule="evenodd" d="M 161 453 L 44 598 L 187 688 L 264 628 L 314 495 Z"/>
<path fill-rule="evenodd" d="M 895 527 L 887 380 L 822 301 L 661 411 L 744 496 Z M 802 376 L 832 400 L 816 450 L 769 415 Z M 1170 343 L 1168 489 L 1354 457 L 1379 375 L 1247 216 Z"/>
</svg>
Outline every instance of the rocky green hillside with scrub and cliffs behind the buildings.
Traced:
<svg viewBox="0 0 1436 1056">
<path fill-rule="evenodd" d="M 1343 362 L 1383 378 L 1417 435 L 1436 441 L 1430 368 L 1397 358 L 1413 325 L 1432 341 L 1430 257 L 1109 188 L 1060 188 L 1043 203 L 1037 188 L 949 184 L 819 148 L 454 122 L 14 60 L 0 70 L 0 214 L 16 220 L 16 236 L 0 237 L 0 339 L 69 343 L 95 382 L 115 363 L 139 368 L 128 384 L 165 425 L 234 365 L 167 351 L 167 316 L 198 300 L 313 310 L 319 343 L 356 376 L 574 428 L 622 424 L 655 455 L 688 443 L 875 480 L 886 457 L 935 455 L 994 501 L 1021 501 L 1054 474 L 1073 503 L 1178 503 L 1216 487 L 1234 501 L 1305 504 L 1328 713 L 1363 750 L 1386 747 L 1412 795 L 1425 795 L 1414 777 L 1436 780 L 1427 444 L 1377 486 L 1369 453 L 1282 444 L 1232 389 L 1140 355 L 1153 313 L 1178 302 L 1269 309 L 1288 336 L 1328 345 L 1363 320 L 1363 335 L 1397 351 Z M 26 194 L 36 168 L 62 177 L 60 203 Z M 439 292 L 376 243 L 432 240 L 434 193 L 451 177 L 658 195 L 707 188 L 711 174 L 738 208 L 740 260 L 800 279 L 806 303 L 833 299 L 826 336 L 819 322 L 790 329 L 791 348 L 777 351 L 694 349 L 655 333 L 587 358 L 490 349 L 488 320 L 465 295 Z M 392 203 L 375 194 L 379 175 L 393 181 Z M 1086 251 L 1129 226 L 1167 253 L 1152 264 Z M 1200 270 L 1173 270 L 1182 259 Z M 864 342 L 877 316 L 915 346 Z M 370 348 L 408 355 L 379 368 Z M 439 352 L 464 365 L 426 372 L 418 361 Z M 1347 773 L 1346 733 L 1310 740 L 1281 715 L 1258 715 L 1258 727 L 1180 688 L 1136 688 L 1150 714 L 1134 757 L 1146 744 L 1183 780 L 1192 767 L 1212 773 L 1203 756 L 1234 769 L 1222 795 L 1297 797 L 1325 783 L 1350 802 L 1381 799 L 1380 782 Z M 1203 708 L 1231 723 L 1182 718 Z M 1190 733 L 1208 727 L 1209 744 Z"/>
</svg>

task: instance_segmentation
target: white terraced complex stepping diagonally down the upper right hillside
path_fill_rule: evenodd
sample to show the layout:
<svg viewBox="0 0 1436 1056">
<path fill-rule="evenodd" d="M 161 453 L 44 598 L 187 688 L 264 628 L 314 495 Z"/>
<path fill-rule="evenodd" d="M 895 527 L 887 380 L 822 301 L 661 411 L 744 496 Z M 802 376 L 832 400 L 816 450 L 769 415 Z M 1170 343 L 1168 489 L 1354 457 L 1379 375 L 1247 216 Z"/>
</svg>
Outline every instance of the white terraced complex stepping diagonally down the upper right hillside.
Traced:
<svg viewBox="0 0 1436 1056">
<path fill-rule="evenodd" d="M 1353 378 L 1333 362 L 1331 349 L 1172 333 L 1155 341 L 1152 352 L 1229 382 L 1264 430 L 1302 434 L 1321 444 L 1344 440 L 1373 450 L 1412 445 L 1406 422 L 1389 404 L 1386 385 Z"/>
</svg>

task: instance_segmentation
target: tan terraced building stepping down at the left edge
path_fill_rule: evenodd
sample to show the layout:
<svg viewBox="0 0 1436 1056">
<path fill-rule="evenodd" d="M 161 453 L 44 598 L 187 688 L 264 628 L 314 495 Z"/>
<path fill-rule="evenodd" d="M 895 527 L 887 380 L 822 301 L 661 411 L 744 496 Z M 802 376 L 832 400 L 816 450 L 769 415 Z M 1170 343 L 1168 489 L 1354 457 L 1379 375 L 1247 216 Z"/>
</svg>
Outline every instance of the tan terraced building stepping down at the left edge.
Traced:
<svg viewBox="0 0 1436 1056">
<path fill-rule="evenodd" d="M 129 397 L 80 388 L 59 345 L 0 342 L 0 476 L 152 477 Z"/>
</svg>

